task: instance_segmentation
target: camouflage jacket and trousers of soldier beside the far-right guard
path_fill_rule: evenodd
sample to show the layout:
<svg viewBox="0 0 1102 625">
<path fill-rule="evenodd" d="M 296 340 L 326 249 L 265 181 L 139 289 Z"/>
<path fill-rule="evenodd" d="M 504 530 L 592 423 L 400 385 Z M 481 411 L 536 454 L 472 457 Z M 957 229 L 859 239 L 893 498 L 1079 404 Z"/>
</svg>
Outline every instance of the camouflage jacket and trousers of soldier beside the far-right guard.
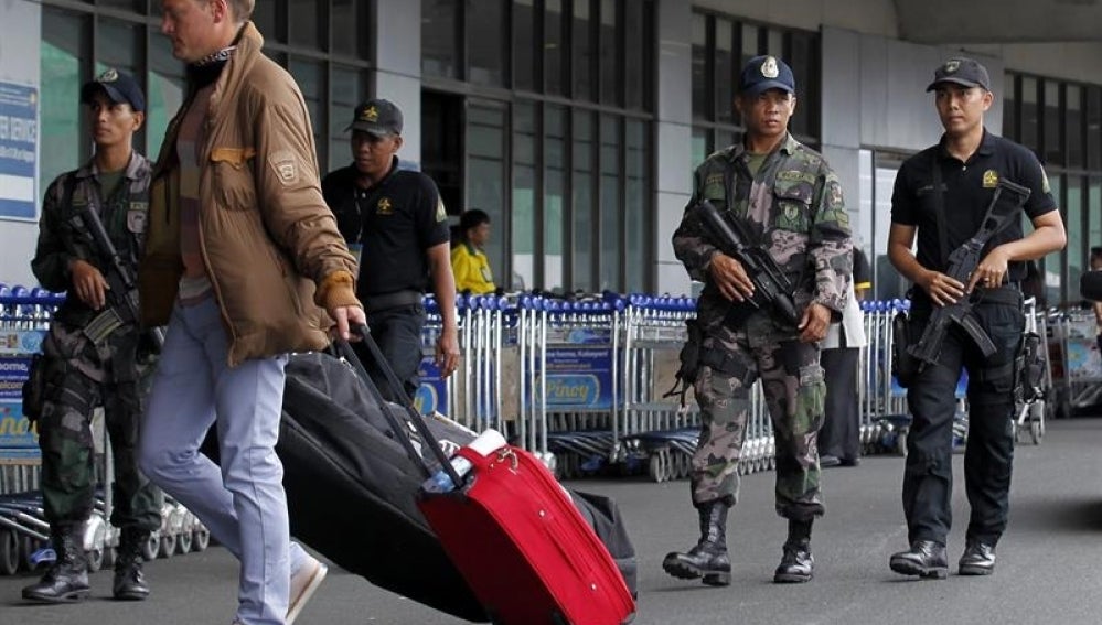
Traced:
<svg viewBox="0 0 1102 625">
<path fill-rule="evenodd" d="M 708 157 L 696 171 L 689 207 L 712 200 L 731 211 L 795 284 L 798 312 L 816 302 L 839 316 L 850 289 L 852 243 L 837 176 L 791 134 L 757 175 L 747 161 L 741 144 Z M 777 513 L 793 520 L 821 516 L 815 437 L 826 385 L 819 345 L 801 343 L 795 327 L 768 312 L 741 310 L 724 298 L 708 272 L 718 249 L 695 212 L 686 209 L 673 245 L 689 276 L 705 283 L 697 315 L 704 341 L 694 390 L 703 425 L 693 459 L 694 505 L 737 500 L 750 388 L 760 377 L 777 441 Z"/>
</svg>

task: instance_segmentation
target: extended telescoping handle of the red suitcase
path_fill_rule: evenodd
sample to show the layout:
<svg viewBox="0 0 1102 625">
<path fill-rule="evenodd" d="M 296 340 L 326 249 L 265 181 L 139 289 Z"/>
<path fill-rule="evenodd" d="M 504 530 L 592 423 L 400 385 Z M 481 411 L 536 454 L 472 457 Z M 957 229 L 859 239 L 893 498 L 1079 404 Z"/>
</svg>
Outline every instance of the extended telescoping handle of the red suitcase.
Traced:
<svg viewBox="0 0 1102 625">
<path fill-rule="evenodd" d="M 364 345 L 367 346 L 372 360 L 374 360 L 375 366 L 383 371 L 383 376 L 386 377 L 386 384 L 390 387 L 394 396 L 398 398 L 402 407 L 409 414 L 409 420 L 413 421 L 414 427 L 416 427 L 417 431 L 421 433 L 421 438 L 432 451 L 432 455 L 436 456 L 436 460 L 440 463 L 440 467 L 448 474 L 448 477 L 451 478 L 452 484 L 462 484 L 463 478 L 460 477 L 456 467 L 451 465 L 451 462 L 448 460 L 448 455 L 443 453 L 443 449 L 440 448 L 440 442 L 436 439 L 436 435 L 431 430 L 429 430 L 428 424 L 425 422 L 425 418 L 421 417 L 421 413 L 418 412 L 416 408 L 414 408 L 414 402 L 409 399 L 409 394 L 406 392 L 405 386 L 403 386 L 402 381 L 398 380 L 398 376 L 395 375 L 394 369 L 390 368 L 390 363 L 386 360 L 386 356 L 384 356 L 382 349 L 378 348 L 378 343 L 376 343 L 375 337 L 372 336 L 371 328 L 367 327 L 367 324 L 362 324 L 353 330 L 360 334 Z M 343 338 L 338 338 L 336 348 L 340 355 L 352 364 L 356 374 L 364 380 L 364 386 L 367 387 L 367 391 L 371 394 L 372 398 L 378 402 L 379 407 L 382 407 L 383 416 L 386 418 L 387 423 L 390 424 L 390 429 L 394 430 L 394 435 L 398 439 L 398 442 L 402 443 L 406 453 L 409 454 L 409 459 L 414 461 L 414 464 L 420 467 L 425 477 L 431 477 L 432 467 L 430 467 L 425 459 L 421 457 L 421 454 L 417 452 L 417 449 L 414 446 L 414 442 L 409 439 L 409 431 L 406 429 L 406 425 L 397 417 L 395 417 L 394 412 L 390 411 L 390 403 L 383 397 L 383 394 L 379 392 L 378 388 L 375 387 L 371 376 L 367 375 L 367 370 L 364 369 L 363 363 L 360 362 L 360 357 L 356 356 L 356 353 L 352 349 L 352 345 Z"/>
</svg>

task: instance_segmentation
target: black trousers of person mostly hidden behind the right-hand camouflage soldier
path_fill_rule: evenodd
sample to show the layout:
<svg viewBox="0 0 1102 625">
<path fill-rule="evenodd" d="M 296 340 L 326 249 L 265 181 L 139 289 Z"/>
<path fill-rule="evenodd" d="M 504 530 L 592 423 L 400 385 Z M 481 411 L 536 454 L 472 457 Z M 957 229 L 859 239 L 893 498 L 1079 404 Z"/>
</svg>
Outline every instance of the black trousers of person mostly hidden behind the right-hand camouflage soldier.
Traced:
<svg viewBox="0 0 1102 625">
<path fill-rule="evenodd" d="M 859 347 L 823 349 L 826 371 L 826 417 L 819 430 L 819 455 L 856 460 L 860 455 L 860 413 L 857 397 Z"/>
</svg>

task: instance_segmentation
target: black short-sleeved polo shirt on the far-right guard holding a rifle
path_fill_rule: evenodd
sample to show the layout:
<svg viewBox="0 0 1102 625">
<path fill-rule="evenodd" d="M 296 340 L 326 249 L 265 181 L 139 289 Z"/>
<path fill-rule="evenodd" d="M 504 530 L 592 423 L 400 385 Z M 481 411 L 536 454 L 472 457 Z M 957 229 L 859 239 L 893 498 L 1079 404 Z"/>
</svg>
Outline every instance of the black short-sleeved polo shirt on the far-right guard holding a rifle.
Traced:
<svg viewBox="0 0 1102 625">
<path fill-rule="evenodd" d="M 946 256 L 964 245 L 980 229 L 999 180 L 1008 180 L 1031 191 L 1025 204 L 1025 213 L 1030 220 L 1057 208 L 1056 201 L 1049 192 L 1045 170 L 1034 153 L 1025 147 L 984 130 L 980 148 L 966 163 L 962 163 L 945 150 L 943 138 L 941 143 L 927 148 L 903 162 L 896 175 L 896 186 L 891 194 L 891 222 L 905 226 L 918 226 L 917 258 L 922 267 L 940 271 L 948 268 L 940 260 L 938 220 L 932 193 L 931 168 L 934 155 L 941 166 L 944 188 Z M 985 254 L 998 245 L 1021 237 L 1021 223 L 1015 220 L 992 237 Z M 1010 262 L 1007 273 L 1009 281 L 1020 282 L 1026 276 L 1025 263 Z"/>
</svg>

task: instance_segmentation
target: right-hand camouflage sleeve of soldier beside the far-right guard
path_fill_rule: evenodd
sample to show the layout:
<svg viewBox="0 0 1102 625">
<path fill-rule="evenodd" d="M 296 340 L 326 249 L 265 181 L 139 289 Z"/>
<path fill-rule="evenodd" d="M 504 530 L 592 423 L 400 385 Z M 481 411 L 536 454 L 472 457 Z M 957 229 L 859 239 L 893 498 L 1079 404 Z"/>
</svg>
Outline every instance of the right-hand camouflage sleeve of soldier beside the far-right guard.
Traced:
<svg viewBox="0 0 1102 625">
<path fill-rule="evenodd" d="M 815 294 L 812 301 L 835 311 L 839 317 L 849 297 L 853 277 L 853 239 L 849 213 L 842 197 L 838 176 L 824 168 L 815 219 L 811 226 L 809 254 L 815 266 Z"/>
</svg>

